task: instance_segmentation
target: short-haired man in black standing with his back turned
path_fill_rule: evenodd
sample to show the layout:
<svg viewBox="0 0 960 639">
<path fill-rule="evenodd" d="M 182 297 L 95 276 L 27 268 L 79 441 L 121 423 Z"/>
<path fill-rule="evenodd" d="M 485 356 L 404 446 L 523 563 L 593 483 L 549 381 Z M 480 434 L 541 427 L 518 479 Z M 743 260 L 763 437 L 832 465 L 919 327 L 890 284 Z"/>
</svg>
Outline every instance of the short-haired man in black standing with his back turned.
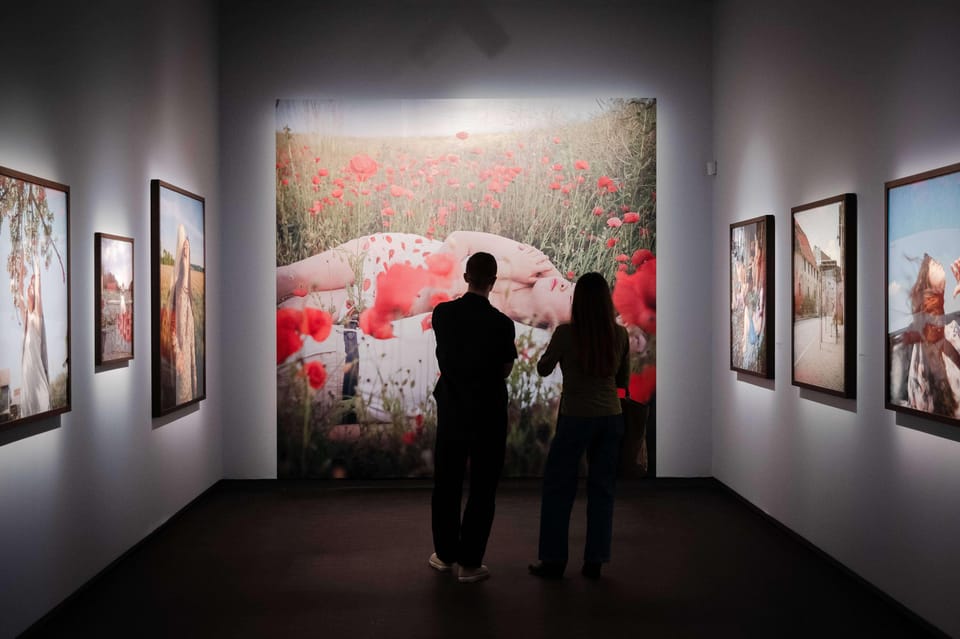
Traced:
<svg viewBox="0 0 960 639">
<path fill-rule="evenodd" d="M 434 455 L 430 566 L 471 583 L 490 571 L 483 555 L 493 525 L 497 483 L 507 439 L 507 385 L 517 358 L 513 320 L 488 299 L 497 281 L 497 260 L 475 253 L 463 278 L 467 292 L 433 311 L 440 379 Z M 460 516 L 463 480 L 470 462 L 470 495 Z"/>
</svg>

